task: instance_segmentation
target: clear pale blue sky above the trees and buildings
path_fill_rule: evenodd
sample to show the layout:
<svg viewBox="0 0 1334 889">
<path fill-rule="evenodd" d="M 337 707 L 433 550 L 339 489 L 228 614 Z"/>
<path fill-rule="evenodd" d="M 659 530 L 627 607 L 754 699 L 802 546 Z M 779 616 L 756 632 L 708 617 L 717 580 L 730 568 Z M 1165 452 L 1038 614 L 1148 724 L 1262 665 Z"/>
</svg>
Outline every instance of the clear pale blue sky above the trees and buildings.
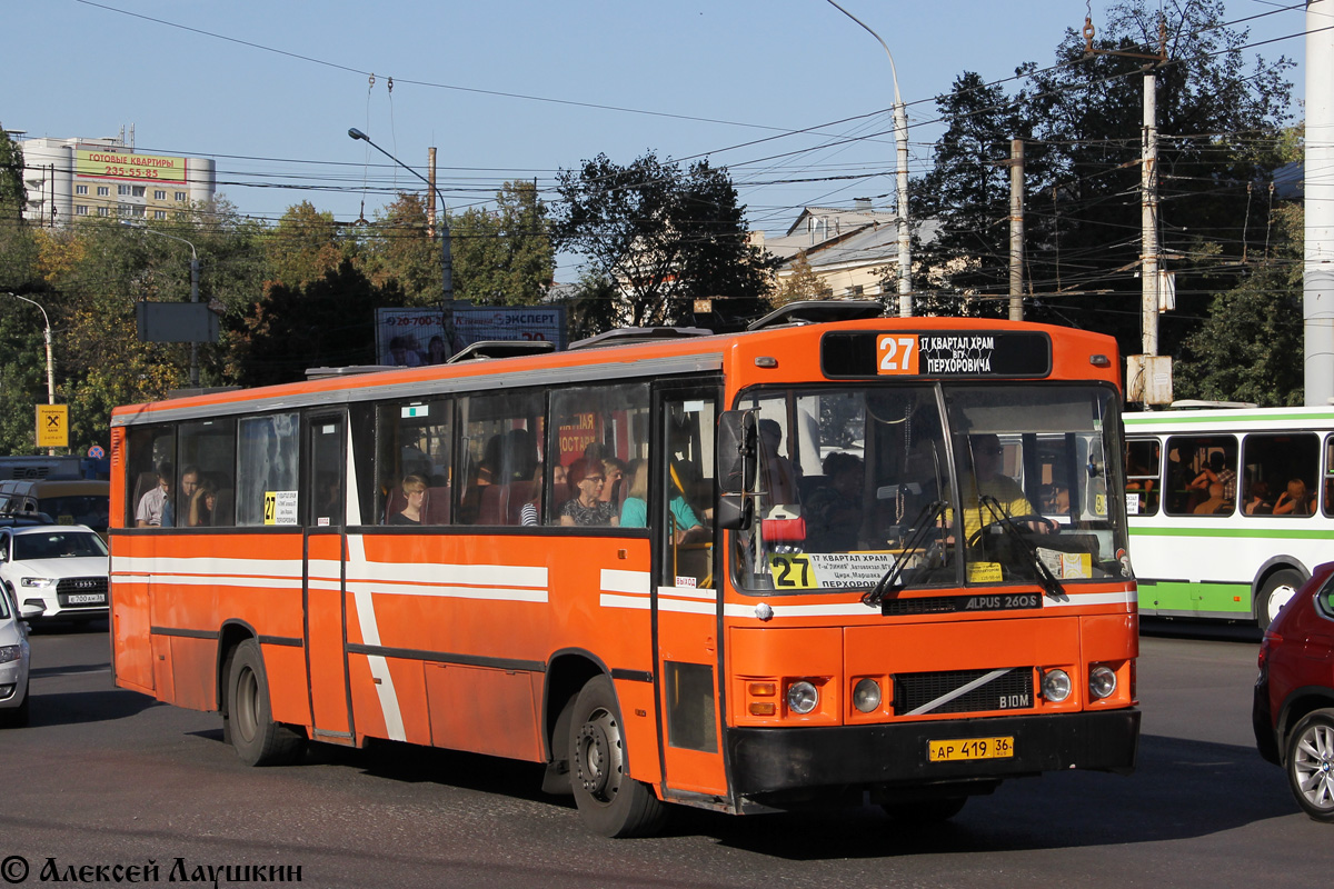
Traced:
<svg viewBox="0 0 1334 889">
<path fill-rule="evenodd" d="M 894 56 L 914 175 L 943 129 L 934 96 L 964 71 L 998 81 L 1051 64 L 1065 32 L 1086 16 L 1098 28 L 1107 7 L 839 5 Z M 750 227 L 771 236 L 806 205 L 894 203 L 890 60 L 828 0 L 27 0 L 0 15 L 7 131 L 132 129 L 141 153 L 213 157 L 219 193 L 255 217 L 308 200 L 351 223 L 424 188 L 350 127 L 423 173 L 436 147 L 455 213 L 508 180 L 535 179 L 550 197 L 560 169 L 648 151 L 726 167 Z M 1230 0 L 1226 19 L 1271 41 L 1247 57 L 1298 63 L 1299 99 L 1302 4 Z M 558 280 L 576 277 L 562 257 Z"/>
</svg>

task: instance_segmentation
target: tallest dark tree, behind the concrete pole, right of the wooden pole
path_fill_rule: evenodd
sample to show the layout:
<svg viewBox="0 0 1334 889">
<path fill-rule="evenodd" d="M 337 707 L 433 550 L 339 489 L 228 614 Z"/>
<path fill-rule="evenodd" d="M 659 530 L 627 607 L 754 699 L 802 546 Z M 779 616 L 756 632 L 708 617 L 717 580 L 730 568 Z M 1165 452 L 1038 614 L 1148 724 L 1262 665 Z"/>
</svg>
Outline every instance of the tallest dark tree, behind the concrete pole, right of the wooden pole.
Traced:
<svg viewBox="0 0 1334 889">
<path fill-rule="evenodd" d="M 1247 64 L 1245 29 L 1223 27 L 1218 0 L 1131 0 L 1111 7 L 1095 48 L 1155 52 L 1159 9 L 1169 63 L 1157 67 L 1159 240 L 1162 253 L 1185 257 L 1177 272 L 1178 309 L 1161 324 L 1161 351 L 1173 352 L 1205 313 L 1217 281 L 1203 276 L 1235 263 L 1246 237 L 1263 231 L 1265 205 L 1247 205 L 1247 184 L 1267 180 L 1281 163 L 1279 127 L 1290 85 L 1283 57 Z M 1085 56 L 1073 29 L 1057 67 L 1034 72 L 1019 96 L 1038 121 L 1035 152 L 1047 171 L 1029 184 L 1027 269 L 1034 289 L 1097 291 L 1034 307 L 1037 320 L 1075 316 L 1114 333 L 1139 352 L 1139 135 L 1143 59 Z M 1217 256 L 1202 244 L 1219 247 Z M 1239 267 L 1237 267 L 1239 268 Z M 1050 299 L 1050 297 L 1049 297 Z M 1046 301 L 1046 300 L 1043 300 Z M 1053 311 L 1054 309 L 1054 311 Z"/>
</svg>

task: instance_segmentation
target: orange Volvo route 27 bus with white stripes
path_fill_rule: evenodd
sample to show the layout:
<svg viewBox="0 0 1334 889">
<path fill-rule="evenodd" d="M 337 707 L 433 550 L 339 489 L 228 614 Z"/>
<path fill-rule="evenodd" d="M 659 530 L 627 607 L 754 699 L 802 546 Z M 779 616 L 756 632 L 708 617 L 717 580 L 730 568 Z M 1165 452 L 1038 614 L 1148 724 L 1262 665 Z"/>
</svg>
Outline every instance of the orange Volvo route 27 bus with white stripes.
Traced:
<svg viewBox="0 0 1334 889">
<path fill-rule="evenodd" d="M 1114 343 L 879 315 L 119 408 L 115 680 L 251 765 L 544 762 L 606 836 L 1129 772 Z"/>
</svg>

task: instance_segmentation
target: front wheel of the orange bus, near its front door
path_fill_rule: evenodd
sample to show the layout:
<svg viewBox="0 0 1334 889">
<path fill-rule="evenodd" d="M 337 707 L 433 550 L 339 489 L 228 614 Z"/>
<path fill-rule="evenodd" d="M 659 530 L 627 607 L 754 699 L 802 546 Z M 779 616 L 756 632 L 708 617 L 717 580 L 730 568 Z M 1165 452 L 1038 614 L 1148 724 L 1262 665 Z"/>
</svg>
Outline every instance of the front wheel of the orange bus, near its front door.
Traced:
<svg viewBox="0 0 1334 889">
<path fill-rule="evenodd" d="M 662 826 L 667 810 L 647 784 L 626 773 L 623 725 L 611 680 L 588 680 L 570 720 L 570 785 L 590 830 L 643 837 Z"/>
</svg>

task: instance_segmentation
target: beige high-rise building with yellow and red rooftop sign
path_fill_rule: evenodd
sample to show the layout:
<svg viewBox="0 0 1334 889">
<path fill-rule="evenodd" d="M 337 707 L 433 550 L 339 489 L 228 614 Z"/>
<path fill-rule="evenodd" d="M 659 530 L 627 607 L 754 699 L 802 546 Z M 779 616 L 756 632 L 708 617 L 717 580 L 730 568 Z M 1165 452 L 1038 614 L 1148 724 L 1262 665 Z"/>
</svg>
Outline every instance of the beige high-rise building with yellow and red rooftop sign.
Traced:
<svg viewBox="0 0 1334 889">
<path fill-rule="evenodd" d="M 24 217 L 64 225 L 85 216 L 171 219 L 212 201 L 216 167 L 203 157 L 151 155 L 124 139 L 27 139 L 23 148 Z"/>
</svg>

